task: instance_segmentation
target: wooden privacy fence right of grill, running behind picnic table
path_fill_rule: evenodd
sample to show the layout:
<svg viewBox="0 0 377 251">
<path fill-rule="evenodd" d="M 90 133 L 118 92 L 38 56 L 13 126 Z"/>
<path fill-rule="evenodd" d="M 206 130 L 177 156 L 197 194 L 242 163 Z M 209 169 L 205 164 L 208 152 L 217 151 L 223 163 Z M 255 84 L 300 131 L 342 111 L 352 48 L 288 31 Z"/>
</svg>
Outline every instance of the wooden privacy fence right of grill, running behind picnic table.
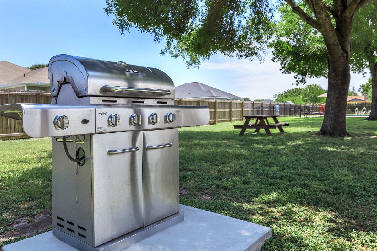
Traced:
<svg viewBox="0 0 377 251">
<path fill-rule="evenodd" d="M 244 120 L 243 116 L 276 114 L 277 105 L 281 116 L 297 114 L 297 105 L 286 103 L 263 103 L 253 101 L 175 99 L 176 105 L 204 105 L 210 108 L 210 124 Z M 288 115 L 289 114 L 289 115 Z"/>
</svg>

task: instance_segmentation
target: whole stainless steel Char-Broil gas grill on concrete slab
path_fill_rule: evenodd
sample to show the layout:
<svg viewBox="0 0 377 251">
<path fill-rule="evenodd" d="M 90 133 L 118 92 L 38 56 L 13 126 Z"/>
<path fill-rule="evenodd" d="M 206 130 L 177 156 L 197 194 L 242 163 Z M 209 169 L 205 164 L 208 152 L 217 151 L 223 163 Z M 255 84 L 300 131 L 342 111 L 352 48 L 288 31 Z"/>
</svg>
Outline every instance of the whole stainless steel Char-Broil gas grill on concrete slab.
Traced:
<svg viewBox="0 0 377 251">
<path fill-rule="evenodd" d="M 49 62 L 51 104 L 1 105 L 31 137 L 52 137 L 55 236 L 80 250 L 122 250 L 183 220 L 178 128 L 207 106 L 174 105 L 164 72 L 69 55 Z"/>
</svg>

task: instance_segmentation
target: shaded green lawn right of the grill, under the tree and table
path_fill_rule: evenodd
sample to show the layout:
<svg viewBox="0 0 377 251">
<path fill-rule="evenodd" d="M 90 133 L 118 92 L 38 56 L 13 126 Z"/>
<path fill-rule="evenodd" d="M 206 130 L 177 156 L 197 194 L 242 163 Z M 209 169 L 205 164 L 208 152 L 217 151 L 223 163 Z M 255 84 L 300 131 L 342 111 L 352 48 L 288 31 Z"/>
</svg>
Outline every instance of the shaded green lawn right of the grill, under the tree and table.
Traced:
<svg viewBox="0 0 377 251">
<path fill-rule="evenodd" d="M 294 121 L 305 127 L 300 123 L 305 121 Z M 210 128 L 179 132 L 180 184 L 186 191 L 181 203 L 275 226 L 274 236 L 287 250 L 293 250 L 290 245 L 317 250 L 310 240 L 301 240 L 302 233 L 295 234 L 307 225 L 346 242 L 354 241 L 352 231 L 377 240 L 375 138 L 238 133 Z M 281 232 L 290 224 L 295 230 Z M 342 245 L 339 250 L 345 250 Z"/>
</svg>

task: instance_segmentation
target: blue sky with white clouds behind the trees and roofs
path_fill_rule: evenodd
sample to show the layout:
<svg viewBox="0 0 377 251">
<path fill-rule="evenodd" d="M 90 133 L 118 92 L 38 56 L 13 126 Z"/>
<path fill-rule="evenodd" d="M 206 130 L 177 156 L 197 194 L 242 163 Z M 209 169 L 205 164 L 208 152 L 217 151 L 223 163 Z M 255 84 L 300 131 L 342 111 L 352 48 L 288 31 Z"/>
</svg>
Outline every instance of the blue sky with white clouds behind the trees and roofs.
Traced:
<svg viewBox="0 0 377 251">
<path fill-rule="evenodd" d="M 151 35 L 131 30 L 122 36 L 104 14 L 104 0 L 0 0 L 0 61 L 21 66 L 48 63 L 57 54 L 70 54 L 108 61 L 159 68 L 176 86 L 199 81 L 237 96 L 271 99 L 273 94 L 292 88 L 293 75 L 284 75 L 279 64 L 249 63 L 216 55 L 199 69 L 187 69 L 182 59 L 160 56 L 163 43 Z M 351 88 L 366 82 L 351 75 Z M 327 89 L 326 79 L 311 79 Z"/>
</svg>

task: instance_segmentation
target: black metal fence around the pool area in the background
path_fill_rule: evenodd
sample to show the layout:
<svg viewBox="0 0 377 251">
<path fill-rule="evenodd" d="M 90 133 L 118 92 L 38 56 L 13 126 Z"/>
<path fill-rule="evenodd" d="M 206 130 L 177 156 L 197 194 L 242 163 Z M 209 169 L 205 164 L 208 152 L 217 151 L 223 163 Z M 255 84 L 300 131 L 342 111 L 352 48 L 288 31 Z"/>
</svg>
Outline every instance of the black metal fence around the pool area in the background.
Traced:
<svg viewBox="0 0 377 251">
<path fill-rule="evenodd" d="M 347 103 L 347 117 L 368 117 L 371 102 Z M 279 114 L 280 117 L 321 117 L 325 114 L 325 105 L 273 105 L 254 106 L 254 114 Z"/>
</svg>

